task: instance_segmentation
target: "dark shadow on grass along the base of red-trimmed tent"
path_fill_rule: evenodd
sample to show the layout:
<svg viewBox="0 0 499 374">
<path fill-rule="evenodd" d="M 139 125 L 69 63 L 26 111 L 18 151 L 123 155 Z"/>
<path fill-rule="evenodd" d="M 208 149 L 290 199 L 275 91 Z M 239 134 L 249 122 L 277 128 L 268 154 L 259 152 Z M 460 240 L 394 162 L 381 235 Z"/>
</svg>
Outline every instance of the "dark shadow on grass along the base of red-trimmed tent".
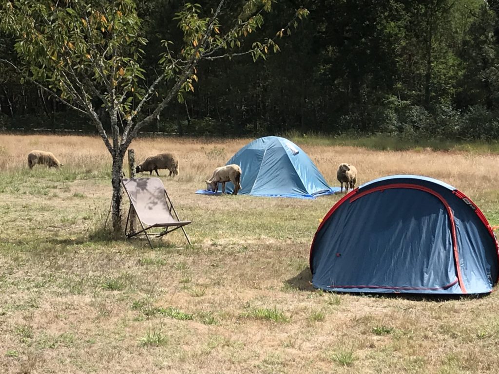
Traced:
<svg viewBox="0 0 499 374">
<path fill-rule="evenodd" d="M 296 274 L 294 277 L 286 280 L 286 283 L 290 286 L 300 290 L 300 291 L 316 291 L 317 289 L 312 285 L 312 274 L 310 272 L 310 268 L 307 266 L 300 273 Z M 481 299 L 483 297 L 487 297 L 490 293 L 487 294 L 469 294 L 469 295 L 435 295 L 435 294 L 410 294 L 410 293 L 385 293 L 385 292 L 335 292 L 335 291 L 327 291 L 325 292 L 335 293 L 335 294 L 348 294 L 351 296 L 357 297 L 367 297 L 373 299 L 404 299 L 410 301 L 422 301 L 422 302 L 436 302 L 442 303 L 451 300 L 475 300 Z"/>
</svg>

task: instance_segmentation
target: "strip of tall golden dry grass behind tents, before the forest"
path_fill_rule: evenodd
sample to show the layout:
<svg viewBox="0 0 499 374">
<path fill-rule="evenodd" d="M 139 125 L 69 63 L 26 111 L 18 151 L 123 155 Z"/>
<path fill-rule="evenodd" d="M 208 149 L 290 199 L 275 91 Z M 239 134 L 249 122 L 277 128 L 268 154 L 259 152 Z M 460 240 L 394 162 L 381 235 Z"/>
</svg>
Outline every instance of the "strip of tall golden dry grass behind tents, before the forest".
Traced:
<svg viewBox="0 0 499 374">
<path fill-rule="evenodd" d="M 173 152 L 180 159 L 178 181 L 202 184 L 215 167 L 224 165 L 251 140 L 145 138 L 134 140 L 130 148 L 135 150 L 137 162 L 157 153 Z M 499 156 L 496 154 L 421 149 L 394 152 L 310 145 L 302 148 L 333 186 L 337 185 L 337 165 L 342 162 L 357 167 L 360 184 L 387 175 L 415 174 L 442 180 L 470 196 L 478 196 L 495 190 L 499 183 Z M 65 168 L 111 167 L 111 156 L 100 137 L 4 134 L 0 135 L 0 166 L 3 170 L 26 168 L 27 154 L 33 149 L 54 153 Z M 125 170 L 127 167 L 125 160 Z"/>
</svg>

